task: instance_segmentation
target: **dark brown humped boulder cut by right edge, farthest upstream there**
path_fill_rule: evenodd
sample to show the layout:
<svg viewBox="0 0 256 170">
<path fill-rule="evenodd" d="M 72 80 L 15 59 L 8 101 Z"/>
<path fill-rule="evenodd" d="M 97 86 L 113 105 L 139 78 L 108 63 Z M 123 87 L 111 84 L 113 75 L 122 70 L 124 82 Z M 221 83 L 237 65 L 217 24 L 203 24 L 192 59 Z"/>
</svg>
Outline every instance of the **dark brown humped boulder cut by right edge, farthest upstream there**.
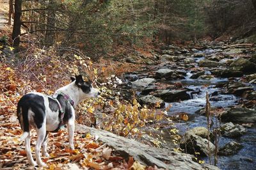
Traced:
<svg viewBox="0 0 256 170">
<path fill-rule="evenodd" d="M 244 58 L 236 59 L 230 67 L 239 67 L 243 72 L 256 72 L 256 64 Z"/>
</svg>

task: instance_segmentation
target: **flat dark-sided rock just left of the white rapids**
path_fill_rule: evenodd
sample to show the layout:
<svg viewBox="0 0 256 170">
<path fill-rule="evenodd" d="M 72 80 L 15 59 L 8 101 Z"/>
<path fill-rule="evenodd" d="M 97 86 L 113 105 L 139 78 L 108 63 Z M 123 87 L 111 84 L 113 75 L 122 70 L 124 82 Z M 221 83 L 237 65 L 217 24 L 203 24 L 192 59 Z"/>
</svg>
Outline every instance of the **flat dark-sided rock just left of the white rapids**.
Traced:
<svg viewBox="0 0 256 170">
<path fill-rule="evenodd" d="M 157 90 L 154 95 L 162 98 L 165 102 L 177 102 L 190 99 L 190 96 L 186 93 L 187 91 L 187 89 L 164 89 Z"/>
</svg>

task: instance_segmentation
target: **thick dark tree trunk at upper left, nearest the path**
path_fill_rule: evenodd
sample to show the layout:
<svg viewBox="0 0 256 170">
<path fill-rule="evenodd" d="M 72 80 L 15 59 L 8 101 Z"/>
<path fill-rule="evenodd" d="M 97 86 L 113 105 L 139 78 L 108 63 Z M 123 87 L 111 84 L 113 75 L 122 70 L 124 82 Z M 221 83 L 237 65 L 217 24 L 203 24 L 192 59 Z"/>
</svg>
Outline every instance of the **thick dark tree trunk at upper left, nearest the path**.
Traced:
<svg viewBox="0 0 256 170">
<path fill-rule="evenodd" d="M 17 50 L 19 49 L 20 44 L 20 17 L 21 17 L 21 10 L 22 10 L 22 0 L 15 0 L 15 13 L 14 13 L 14 21 L 13 21 L 13 30 L 12 30 L 12 40 L 13 40 L 13 47 Z"/>
</svg>

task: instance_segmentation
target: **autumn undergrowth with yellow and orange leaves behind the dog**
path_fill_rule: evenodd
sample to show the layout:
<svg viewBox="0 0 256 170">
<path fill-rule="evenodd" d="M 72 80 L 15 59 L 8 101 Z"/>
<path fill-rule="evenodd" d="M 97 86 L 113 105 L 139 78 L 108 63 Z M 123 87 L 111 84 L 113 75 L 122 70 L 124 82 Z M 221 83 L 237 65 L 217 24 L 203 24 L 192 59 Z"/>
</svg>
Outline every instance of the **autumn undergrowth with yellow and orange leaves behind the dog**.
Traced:
<svg viewBox="0 0 256 170">
<path fill-rule="evenodd" d="M 74 49 L 59 56 L 58 47 L 40 49 L 33 44 L 17 54 L 13 54 L 13 48 L 7 46 L 1 46 L 0 51 L 1 100 L 9 101 L 10 107 L 6 107 L 6 111 L 10 114 L 15 113 L 22 95 L 30 91 L 52 95 L 56 89 L 70 83 L 70 76 L 82 74 L 100 89 L 101 97 L 79 104 L 76 108 L 77 123 L 138 140 L 147 135 L 149 144 L 158 147 L 164 146 L 166 140 L 168 143 L 179 142 L 175 128 L 168 130 L 167 137 L 166 132 L 161 130 L 162 122 L 168 126 L 173 123 L 166 118 L 166 111 L 159 109 L 159 104 L 154 108 L 141 106 L 135 97 L 124 100 L 116 89 L 122 74 L 132 72 L 138 66 L 103 58 L 95 63 Z"/>
</svg>

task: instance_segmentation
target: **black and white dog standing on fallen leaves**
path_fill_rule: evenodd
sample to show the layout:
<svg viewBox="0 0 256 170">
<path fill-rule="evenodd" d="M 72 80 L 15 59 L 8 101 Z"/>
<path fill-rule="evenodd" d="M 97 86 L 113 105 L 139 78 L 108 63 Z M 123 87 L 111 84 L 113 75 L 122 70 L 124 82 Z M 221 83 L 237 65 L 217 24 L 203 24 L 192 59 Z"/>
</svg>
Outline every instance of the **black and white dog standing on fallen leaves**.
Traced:
<svg viewBox="0 0 256 170">
<path fill-rule="evenodd" d="M 89 82 L 83 81 L 78 75 L 71 77 L 72 82 L 54 93 L 53 97 L 42 93 L 28 93 L 20 98 L 17 116 L 23 134 L 20 141 L 25 140 L 26 153 L 29 164 L 45 166 L 40 156 L 49 157 L 47 153 L 47 137 L 49 132 L 56 132 L 62 125 L 67 124 L 69 147 L 74 150 L 75 107 L 86 98 L 97 97 L 99 91 Z M 35 146 L 36 163 L 33 160 L 30 146 L 30 130 L 35 128 L 37 141 Z"/>
</svg>

